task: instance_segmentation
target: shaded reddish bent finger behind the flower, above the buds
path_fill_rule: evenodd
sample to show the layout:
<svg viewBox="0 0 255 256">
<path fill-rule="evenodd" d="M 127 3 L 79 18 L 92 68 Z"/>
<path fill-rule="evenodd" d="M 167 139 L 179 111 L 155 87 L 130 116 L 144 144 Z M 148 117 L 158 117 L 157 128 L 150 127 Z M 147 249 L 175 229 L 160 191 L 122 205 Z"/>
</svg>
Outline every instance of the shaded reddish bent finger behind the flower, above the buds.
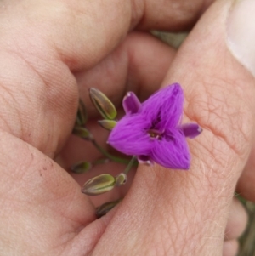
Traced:
<svg viewBox="0 0 255 256">
<path fill-rule="evenodd" d="M 89 71 L 75 73 L 79 92 L 90 117 L 97 111 L 88 88 L 101 90 L 116 107 L 122 107 L 127 91 L 147 99 L 160 87 L 175 50 L 147 33 L 132 32 L 116 50 Z"/>
</svg>

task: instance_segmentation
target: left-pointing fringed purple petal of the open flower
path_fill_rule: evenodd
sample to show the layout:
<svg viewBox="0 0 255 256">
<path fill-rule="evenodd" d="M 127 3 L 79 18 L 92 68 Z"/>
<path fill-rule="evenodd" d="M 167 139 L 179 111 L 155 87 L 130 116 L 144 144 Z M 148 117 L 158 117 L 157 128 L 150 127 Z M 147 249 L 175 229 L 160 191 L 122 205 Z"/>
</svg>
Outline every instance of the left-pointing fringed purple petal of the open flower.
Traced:
<svg viewBox="0 0 255 256">
<path fill-rule="evenodd" d="M 148 127 L 150 122 L 140 114 L 125 116 L 111 131 L 108 143 L 126 155 L 149 155 L 153 141 L 147 133 Z"/>
</svg>

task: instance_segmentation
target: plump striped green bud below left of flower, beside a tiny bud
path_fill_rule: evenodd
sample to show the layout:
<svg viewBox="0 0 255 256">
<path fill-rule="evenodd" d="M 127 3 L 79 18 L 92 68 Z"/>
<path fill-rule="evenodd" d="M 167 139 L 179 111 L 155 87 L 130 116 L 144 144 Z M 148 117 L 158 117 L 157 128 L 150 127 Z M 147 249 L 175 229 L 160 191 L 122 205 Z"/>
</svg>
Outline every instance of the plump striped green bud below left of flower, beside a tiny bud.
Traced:
<svg viewBox="0 0 255 256">
<path fill-rule="evenodd" d="M 115 178 L 110 174 L 101 174 L 89 179 L 82 187 L 82 193 L 88 196 L 97 196 L 115 187 Z"/>
</svg>

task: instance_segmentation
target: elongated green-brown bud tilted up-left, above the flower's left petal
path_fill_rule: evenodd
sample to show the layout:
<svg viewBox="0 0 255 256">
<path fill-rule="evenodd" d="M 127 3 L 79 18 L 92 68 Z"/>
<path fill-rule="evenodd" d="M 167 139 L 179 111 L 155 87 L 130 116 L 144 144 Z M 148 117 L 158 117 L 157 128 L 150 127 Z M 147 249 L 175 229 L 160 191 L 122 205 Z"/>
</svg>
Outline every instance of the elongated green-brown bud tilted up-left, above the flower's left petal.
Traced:
<svg viewBox="0 0 255 256">
<path fill-rule="evenodd" d="M 90 88 L 89 96 L 94 106 L 99 111 L 102 117 L 110 120 L 113 120 L 114 118 L 116 118 L 116 114 L 117 114 L 116 108 L 111 103 L 111 100 L 109 100 L 105 96 L 105 94 L 101 93 L 96 88 Z"/>
</svg>

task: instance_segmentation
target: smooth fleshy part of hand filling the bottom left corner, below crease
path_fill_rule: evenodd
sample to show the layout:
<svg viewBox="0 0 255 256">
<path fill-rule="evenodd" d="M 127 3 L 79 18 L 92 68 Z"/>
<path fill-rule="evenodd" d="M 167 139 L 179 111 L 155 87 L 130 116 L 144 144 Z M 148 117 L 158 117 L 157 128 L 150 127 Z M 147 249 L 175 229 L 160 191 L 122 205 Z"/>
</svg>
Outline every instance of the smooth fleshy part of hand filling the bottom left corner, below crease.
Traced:
<svg viewBox="0 0 255 256">
<path fill-rule="evenodd" d="M 94 206 L 80 187 L 48 156 L 8 133 L 0 133 L 0 240 L 5 255 L 59 255 L 83 226 L 94 221 Z M 94 225 L 83 252 L 104 230 Z M 80 255 L 82 255 L 82 253 Z"/>
</svg>

